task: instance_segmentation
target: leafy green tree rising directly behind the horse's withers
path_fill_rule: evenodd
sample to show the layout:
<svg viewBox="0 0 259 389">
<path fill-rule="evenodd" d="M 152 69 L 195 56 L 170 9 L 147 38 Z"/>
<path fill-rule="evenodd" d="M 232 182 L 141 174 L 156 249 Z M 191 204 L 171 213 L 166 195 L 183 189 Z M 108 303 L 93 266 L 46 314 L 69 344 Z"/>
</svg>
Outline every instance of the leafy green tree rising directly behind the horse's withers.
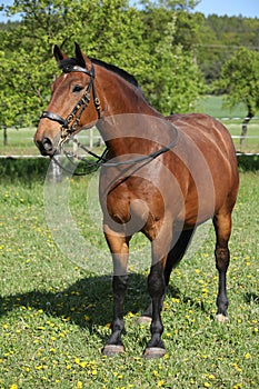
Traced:
<svg viewBox="0 0 259 389">
<path fill-rule="evenodd" d="M 151 54 L 151 71 L 146 73 L 143 90 L 163 114 L 189 112 L 203 91 L 203 78 L 193 58 L 192 43 L 187 43 L 187 34 L 183 34 L 182 43 L 179 38 L 179 24 L 185 20 L 187 31 L 191 20 L 186 13 L 186 10 L 158 4 L 142 12 L 145 39 Z"/>
</svg>

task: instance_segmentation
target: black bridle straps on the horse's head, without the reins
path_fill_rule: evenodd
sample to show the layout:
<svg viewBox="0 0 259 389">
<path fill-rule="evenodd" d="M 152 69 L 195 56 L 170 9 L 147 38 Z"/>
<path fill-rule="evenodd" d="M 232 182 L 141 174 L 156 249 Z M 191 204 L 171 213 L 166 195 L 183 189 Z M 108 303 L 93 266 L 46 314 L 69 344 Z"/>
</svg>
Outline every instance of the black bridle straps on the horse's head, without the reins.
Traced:
<svg viewBox="0 0 259 389">
<path fill-rule="evenodd" d="M 100 119 L 100 101 L 97 97 L 96 88 L 94 88 L 94 83 L 93 83 L 93 80 L 96 77 L 93 64 L 91 63 L 90 71 L 82 68 L 82 67 L 79 67 L 77 64 L 66 64 L 62 68 L 62 71 L 64 73 L 71 73 L 72 71 L 79 71 L 79 72 L 86 73 L 86 74 L 90 76 L 90 82 L 87 87 L 86 92 L 83 93 L 81 99 L 73 107 L 71 113 L 69 113 L 66 119 L 63 119 L 59 114 L 53 113 L 51 111 L 43 111 L 41 117 L 40 117 L 40 119 L 47 118 L 47 119 L 57 121 L 58 123 L 61 124 L 61 129 L 60 129 L 61 130 L 61 138 L 60 138 L 60 142 L 59 142 L 60 144 L 62 144 L 68 139 L 69 136 L 71 136 L 73 132 L 77 131 L 82 112 L 84 111 L 84 109 L 88 107 L 88 104 L 90 102 L 91 91 L 92 91 L 93 103 L 94 103 L 94 107 L 97 110 L 97 116 L 98 116 L 98 119 Z"/>
</svg>

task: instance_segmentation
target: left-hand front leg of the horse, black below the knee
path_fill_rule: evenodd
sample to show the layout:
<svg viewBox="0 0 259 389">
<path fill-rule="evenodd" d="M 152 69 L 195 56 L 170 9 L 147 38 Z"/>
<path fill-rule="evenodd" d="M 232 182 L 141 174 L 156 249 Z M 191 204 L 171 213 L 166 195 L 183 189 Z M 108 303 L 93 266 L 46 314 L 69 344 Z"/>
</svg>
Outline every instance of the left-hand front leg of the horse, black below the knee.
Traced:
<svg viewBox="0 0 259 389">
<path fill-rule="evenodd" d="M 121 335 L 124 329 L 123 303 L 128 286 L 130 237 L 124 237 L 123 235 L 113 232 L 109 230 L 107 226 L 104 227 L 104 236 L 113 260 L 113 320 L 111 323 L 111 336 L 102 349 L 102 353 L 111 357 L 124 351 Z"/>
</svg>

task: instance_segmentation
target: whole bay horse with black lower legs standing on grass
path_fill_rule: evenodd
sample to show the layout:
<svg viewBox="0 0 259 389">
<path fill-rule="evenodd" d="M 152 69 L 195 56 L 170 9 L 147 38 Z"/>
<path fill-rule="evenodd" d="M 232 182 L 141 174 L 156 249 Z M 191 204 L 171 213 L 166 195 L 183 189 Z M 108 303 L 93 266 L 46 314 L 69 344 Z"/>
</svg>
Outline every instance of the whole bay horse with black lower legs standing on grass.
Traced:
<svg viewBox="0 0 259 389">
<path fill-rule="evenodd" d="M 123 301 L 129 242 L 141 231 L 151 242 L 148 277 L 151 340 L 145 357 L 162 357 L 162 301 L 172 268 L 181 260 L 196 227 L 212 218 L 219 275 L 217 319 L 227 319 L 226 275 L 231 212 L 238 193 L 238 169 L 231 137 L 205 114 L 165 118 L 145 99 L 126 71 L 54 47 L 62 74 L 34 134 L 42 154 L 52 157 L 71 133 L 97 124 L 108 152 L 100 172 L 103 231 L 113 259 L 112 332 L 103 353 L 123 351 Z"/>
</svg>

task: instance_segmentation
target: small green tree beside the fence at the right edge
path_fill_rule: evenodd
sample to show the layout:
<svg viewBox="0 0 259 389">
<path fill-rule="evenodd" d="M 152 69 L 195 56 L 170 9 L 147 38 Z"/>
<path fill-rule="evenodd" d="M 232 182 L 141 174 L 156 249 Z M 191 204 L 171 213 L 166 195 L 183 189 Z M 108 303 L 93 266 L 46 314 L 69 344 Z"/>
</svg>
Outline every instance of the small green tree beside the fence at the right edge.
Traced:
<svg viewBox="0 0 259 389">
<path fill-rule="evenodd" d="M 247 134 L 247 126 L 259 109 L 259 52 L 239 49 L 222 67 L 221 77 L 215 84 L 217 90 L 227 91 L 227 106 L 233 108 L 240 102 L 247 107 L 242 122 L 240 143 Z"/>
</svg>

